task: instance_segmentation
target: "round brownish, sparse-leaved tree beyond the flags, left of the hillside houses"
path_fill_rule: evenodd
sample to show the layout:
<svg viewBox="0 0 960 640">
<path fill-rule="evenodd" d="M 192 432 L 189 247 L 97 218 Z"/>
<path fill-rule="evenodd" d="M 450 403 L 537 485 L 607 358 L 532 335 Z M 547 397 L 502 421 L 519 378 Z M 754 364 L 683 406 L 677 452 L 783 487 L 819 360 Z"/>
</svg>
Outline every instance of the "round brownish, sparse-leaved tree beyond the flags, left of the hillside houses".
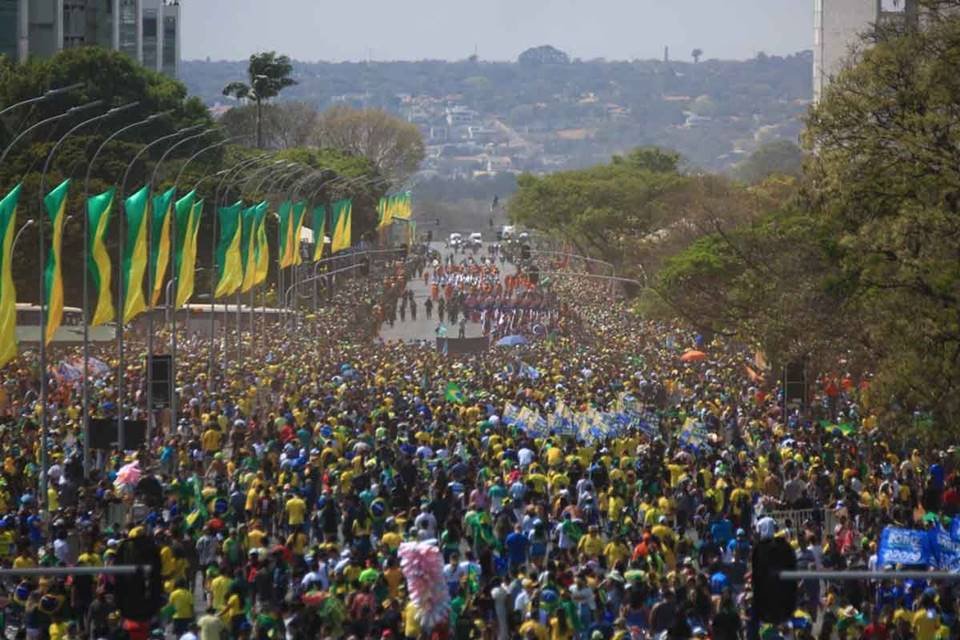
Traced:
<svg viewBox="0 0 960 640">
<path fill-rule="evenodd" d="M 366 158 L 394 182 L 412 175 L 425 155 L 420 130 L 380 109 L 333 107 L 321 114 L 315 140 Z"/>
</svg>

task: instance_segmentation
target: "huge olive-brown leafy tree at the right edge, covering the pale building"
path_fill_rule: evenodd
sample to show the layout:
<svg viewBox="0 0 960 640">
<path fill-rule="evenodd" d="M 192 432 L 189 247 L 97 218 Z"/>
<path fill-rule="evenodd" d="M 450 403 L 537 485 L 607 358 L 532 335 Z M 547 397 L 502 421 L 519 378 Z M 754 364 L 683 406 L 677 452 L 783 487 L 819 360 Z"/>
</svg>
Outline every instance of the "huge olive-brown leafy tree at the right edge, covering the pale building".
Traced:
<svg viewBox="0 0 960 640">
<path fill-rule="evenodd" d="M 960 420 L 960 18 L 879 30 L 811 112 L 812 205 L 866 318 L 874 406 Z M 956 434 L 956 431 L 946 431 Z"/>
</svg>

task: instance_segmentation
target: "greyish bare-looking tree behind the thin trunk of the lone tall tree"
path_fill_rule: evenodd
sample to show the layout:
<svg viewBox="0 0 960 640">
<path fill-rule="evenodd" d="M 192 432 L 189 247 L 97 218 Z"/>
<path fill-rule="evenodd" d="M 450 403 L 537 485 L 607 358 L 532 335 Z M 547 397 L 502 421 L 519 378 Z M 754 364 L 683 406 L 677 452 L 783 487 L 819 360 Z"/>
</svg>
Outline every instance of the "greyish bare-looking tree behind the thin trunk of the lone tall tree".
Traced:
<svg viewBox="0 0 960 640">
<path fill-rule="evenodd" d="M 313 140 L 320 114 L 306 102 L 265 104 L 262 110 L 262 136 L 265 149 L 305 147 Z M 235 107 L 220 118 L 230 136 L 256 131 L 257 108 L 254 105 Z"/>
</svg>

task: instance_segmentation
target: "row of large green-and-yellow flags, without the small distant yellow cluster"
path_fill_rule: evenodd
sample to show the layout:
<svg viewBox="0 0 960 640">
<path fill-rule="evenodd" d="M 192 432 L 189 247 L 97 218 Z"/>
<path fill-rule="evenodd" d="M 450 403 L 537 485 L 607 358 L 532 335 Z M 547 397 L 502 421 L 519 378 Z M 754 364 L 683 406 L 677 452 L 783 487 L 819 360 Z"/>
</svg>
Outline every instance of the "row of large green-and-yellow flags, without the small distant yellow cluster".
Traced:
<svg viewBox="0 0 960 640">
<path fill-rule="evenodd" d="M 46 327 L 42 339 L 53 340 L 63 321 L 63 226 L 66 220 L 70 180 L 63 181 L 43 200 L 51 225 L 50 248 L 44 265 L 43 278 Z M 13 282 L 13 240 L 16 236 L 17 205 L 22 186 L 17 185 L 0 200 L 0 367 L 17 356 L 16 290 Z M 129 323 L 148 308 L 155 307 L 166 287 L 166 274 L 177 278 L 175 308 L 190 301 L 194 293 L 197 242 L 203 200 L 190 191 L 176 198 L 176 189 L 170 188 L 151 199 L 150 189 L 144 186 L 124 201 L 126 233 L 121 257 L 121 317 Z M 91 326 L 112 322 L 117 313 L 111 291 L 113 264 L 107 251 L 106 237 L 116 199 L 114 188 L 87 200 L 89 223 L 87 245 L 87 273 L 94 285 Z M 217 211 L 220 237 L 216 245 L 215 262 L 219 278 L 214 290 L 217 298 L 235 292 L 247 292 L 264 282 L 270 264 L 266 220 L 268 203 L 260 202 L 245 207 L 243 202 L 221 207 Z M 307 204 L 286 201 L 280 204 L 279 265 L 286 268 L 302 264 L 300 237 Z M 176 224 L 172 223 L 175 216 Z M 349 199 L 335 202 L 327 209 L 319 205 L 313 209 L 315 249 L 313 261 L 323 255 L 324 235 L 331 230 L 331 252 L 337 253 L 352 244 L 353 205 Z M 149 227 L 148 227 L 149 225 Z M 149 228 L 150 246 L 147 246 Z M 176 229 L 176 242 L 173 230 Z M 148 250 L 149 249 L 149 250 Z M 151 280 L 145 284 L 147 274 Z M 145 291 L 145 286 L 153 286 Z"/>
</svg>

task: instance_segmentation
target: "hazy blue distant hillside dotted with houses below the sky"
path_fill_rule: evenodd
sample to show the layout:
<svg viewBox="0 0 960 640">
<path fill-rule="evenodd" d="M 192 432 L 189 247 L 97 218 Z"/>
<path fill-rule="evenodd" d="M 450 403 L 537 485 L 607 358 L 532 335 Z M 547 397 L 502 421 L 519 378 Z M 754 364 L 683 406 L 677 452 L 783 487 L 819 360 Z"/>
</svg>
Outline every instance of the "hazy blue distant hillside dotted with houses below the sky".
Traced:
<svg viewBox="0 0 960 640">
<path fill-rule="evenodd" d="M 424 132 L 428 173 L 470 177 L 584 166 L 640 145 L 726 170 L 762 143 L 795 140 L 812 96 L 810 52 L 699 64 L 564 59 L 296 63 L 299 84 L 283 98 L 400 114 Z M 182 79 L 208 104 L 229 105 L 220 91 L 245 67 L 188 61 Z"/>
</svg>

